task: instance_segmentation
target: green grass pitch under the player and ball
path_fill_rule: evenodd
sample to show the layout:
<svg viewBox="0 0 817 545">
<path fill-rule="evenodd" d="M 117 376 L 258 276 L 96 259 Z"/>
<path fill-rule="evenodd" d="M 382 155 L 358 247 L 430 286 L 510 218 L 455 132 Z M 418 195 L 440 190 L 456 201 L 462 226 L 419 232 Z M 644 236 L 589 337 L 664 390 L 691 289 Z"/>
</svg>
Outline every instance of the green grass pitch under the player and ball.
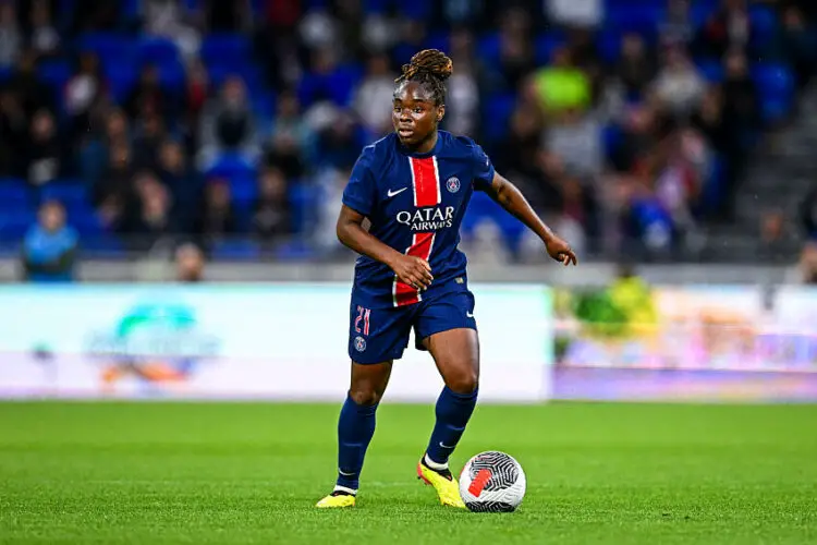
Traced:
<svg viewBox="0 0 817 545">
<path fill-rule="evenodd" d="M 416 481 L 432 409 L 385 403 L 358 506 L 318 511 L 338 407 L 0 403 L 0 543 L 817 543 L 817 407 L 477 409 L 456 456 L 516 457 L 515 513 Z"/>
</svg>

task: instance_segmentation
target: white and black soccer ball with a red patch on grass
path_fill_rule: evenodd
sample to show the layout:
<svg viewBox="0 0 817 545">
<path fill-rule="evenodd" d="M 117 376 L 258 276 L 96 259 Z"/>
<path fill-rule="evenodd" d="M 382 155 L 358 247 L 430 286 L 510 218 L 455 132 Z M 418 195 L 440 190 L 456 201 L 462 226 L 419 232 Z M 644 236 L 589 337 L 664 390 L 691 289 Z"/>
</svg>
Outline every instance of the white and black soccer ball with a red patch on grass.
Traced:
<svg viewBox="0 0 817 545">
<path fill-rule="evenodd" d="M 460 474 L 460 496 L 474 512 L 510 512 L 525 497 L 525 472 L 513 457 L 495 450 L 481 452 Z"/>
</svg>

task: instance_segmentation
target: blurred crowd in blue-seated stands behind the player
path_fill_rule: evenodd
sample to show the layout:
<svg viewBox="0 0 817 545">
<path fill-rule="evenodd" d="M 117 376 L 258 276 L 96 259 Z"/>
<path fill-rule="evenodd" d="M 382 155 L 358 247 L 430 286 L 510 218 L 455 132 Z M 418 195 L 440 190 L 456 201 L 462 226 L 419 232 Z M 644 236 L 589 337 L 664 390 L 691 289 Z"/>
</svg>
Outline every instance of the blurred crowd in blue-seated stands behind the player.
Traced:
<svg viewBox="0 0 817 545">
<path fill-rule="evenodd" d="M 454 62 L 444 129 L 580 252 L 672 255 L 730 220 L 747 157 L 796 113 L 816 7 L 0 0 L 0 234 L 27 231 L 31 275 L 76 247 L 331 256 L 395 74 L 436 47 Z M 540 255 L 492 203 L 472 208 L 475 252 Z"/>
</svg>

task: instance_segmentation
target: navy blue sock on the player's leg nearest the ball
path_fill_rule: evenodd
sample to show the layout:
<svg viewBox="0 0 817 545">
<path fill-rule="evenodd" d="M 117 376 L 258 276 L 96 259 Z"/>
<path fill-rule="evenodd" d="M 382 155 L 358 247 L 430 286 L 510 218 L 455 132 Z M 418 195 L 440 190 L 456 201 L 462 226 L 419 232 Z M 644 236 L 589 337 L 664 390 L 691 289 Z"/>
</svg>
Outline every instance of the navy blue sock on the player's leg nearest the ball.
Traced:
<svg viewBox="0 0 817 545">
<path fill-rule="evenodd" d="M 477 390 L 471 393 L 456 393 L 448 386 L 437 399 L 437 422 L 431 432 L 426 453 L 436 464 L 448 464 L 448 458 L 460 443 L 465 426 L 471 419 L 471 413 L 476 407 Z"/>
</svg>

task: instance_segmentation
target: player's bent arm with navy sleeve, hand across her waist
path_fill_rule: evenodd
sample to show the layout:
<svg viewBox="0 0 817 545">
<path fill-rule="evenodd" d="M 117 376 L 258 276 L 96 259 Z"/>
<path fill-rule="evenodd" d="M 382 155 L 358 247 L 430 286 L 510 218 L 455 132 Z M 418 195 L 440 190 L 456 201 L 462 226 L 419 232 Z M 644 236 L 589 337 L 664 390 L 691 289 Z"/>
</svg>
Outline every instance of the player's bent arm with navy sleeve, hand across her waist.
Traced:
<svg viewBox="0 0 817 545">
<path fill-rule="evenodd" d="M 336 228 L 338 240 L 358 254 L 387 265 L 408 286 L 426 289 L 434 280 L 428 262 L 398 252 L 363 227 L 363 220 L 373 215 L 377 205 L 377 186 L 369 167 L 371 154 L 371 147 L 364 149 L 343 191 L 343 206 Z"/>
</svg>

